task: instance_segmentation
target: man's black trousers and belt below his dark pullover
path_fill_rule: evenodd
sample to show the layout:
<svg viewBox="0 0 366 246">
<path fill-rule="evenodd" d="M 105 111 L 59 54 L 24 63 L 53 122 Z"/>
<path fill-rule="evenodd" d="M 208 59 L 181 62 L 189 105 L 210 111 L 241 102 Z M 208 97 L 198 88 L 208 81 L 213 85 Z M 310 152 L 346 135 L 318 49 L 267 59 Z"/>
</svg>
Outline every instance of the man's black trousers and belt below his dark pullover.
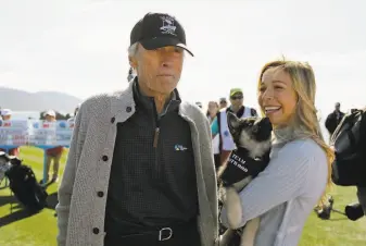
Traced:
<svg viewBox="0 0 366 246">
<path fill-rule="evenodd" d="M 146 232 L 130 234 L 130 235 L 110 235 L 106 233 L 104 238 L 104 246 L 201 246 L 200 234 L 198 232 L 197 223 L 189 223 L 187 225 L 169 226 L 169 230 L 148 230 Z M 167 238 L 169 237 L 171 238 Z"/>
</svg>

